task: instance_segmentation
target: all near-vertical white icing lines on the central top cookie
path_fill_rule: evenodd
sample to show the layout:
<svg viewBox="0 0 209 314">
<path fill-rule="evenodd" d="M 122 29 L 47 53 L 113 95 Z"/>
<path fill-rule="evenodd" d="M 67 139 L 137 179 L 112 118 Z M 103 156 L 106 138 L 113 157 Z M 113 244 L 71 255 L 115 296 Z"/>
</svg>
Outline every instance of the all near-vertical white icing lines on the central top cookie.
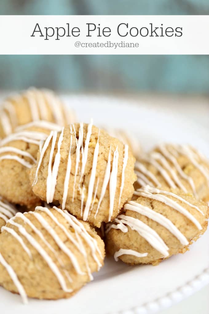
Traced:
<svg viewBox="0 0 209 314">
<path fill-rule="evenodd" d="M 64 189 L 63 189 L 63 197 L 62 197 L 62 209 L 65 209 L 66 205 L 66 200 L 67 200 L 67 195 L 68 195 L 68 189 L 69 189 L 69 180 L 70 180 L 70 174 L 71 174 L 71 147 L 72 147 L 72 134 L 74 133 L 75 136 L 75 141 L 76 141 L 76 165 L 75 165 L 75 175 L 74 175 L 74 183 L 73 183 L 73 193 L 72 193 L 72 202 L 74 201 L 74 195 L 75 195 L 75 189 L 76 189 L 76 181 L 77 181 L 77 175 L 79 173 L 80 178 L 79 178 L 79 184 L 78 184 L 78 190 L 81 194 L 81 216 L 83 216 L 83 220 L 86 221 L 88 219 L 89 214 L 92 211 L 92 208 L 95 204 L 95 200 L 97 197 L 97 190 L 98 190 L 98 184 L 99 184 L 99 178 L 97 177 L 97 183 L 95 184 L 96 181 L 96 171 L 97 171 L 97 160 L 98 160 L 98 154 L 99 154 L 99 134 L 97 138 L 97 143 L 94 148 L 94 153 L 93 153 L 93 162 L 92 162 L 92 168 L 91 168 L 91 175 L 90 175 L 90 180 L 89 180 L 89 185 L 88 188 L 85 187 L 84 183 L 82 183 L 84 173 L 85 173 L 85 166 L 87 162 L 87 157 L 88 157 L 88 147 L 90 143 L 90 138 L 92 134 L 92 124 L 88 124 L 87 127 L 87 133 L 86 133 L 86 140 L 83 145 L 84 141 L 84 128 L 83 128 L 83 123 L 80 123 L 79 127 L 79 136 L 78 139 L 76 138 L 76 130 L 75 126 L 71 125 L 71 135 L 70 135 L 70 150 L 68 153 L 68 161 L 67 161 L 67 168 L 66 168 L 66 174 L 65 174 L 65 180 L 64 180 Z M 73 129 L 73 132 L 72 132 Z M 60 134 L 58 144 L 57 144 L 57 153 L 55 156 L 55 161 L 52 169 L 52 161 L 53 161 L 53 154 L 55 150 L 55 144 L 56 144 L 56 138 L 57 138 L 57 132 L 51 132 L 48 138 L 46 139 L 44 145 L 41 145 L 40 148 L 40 158 L 39 162 L 37 165 L 36 173 L 35 173 L 35 178 L 33 182 L 33 186 L 37 183 L 38 181 L 38 172 L 39 168 L 41 166 L 41 163 L 44 158 L 44 154 L 46 152 L 46 149 L 49 147 L 50 142 L 52 140 L 51 144 L 51 149 L 50 149 L 50 158 L 49 158 L 49 164 L 48 164 L 48 176 L 46 180 L 46 190 L 47 190 L 47 203 L 53 202 L 54 199 L 54 194 L 55 194 L 55 189 L 56 189 L 56 181 L 57 181 L 57 175 L 59 173 L 59 165 L 60 165 L 60 148 L 62 144 L 62 139 L 63 139 L 63 130 Z M 80 158 L 81 155 L 81 158 Z M 118 177 L 118 147 L 113 153 L 113 160 L 112 160 L 112 171 L 111 171 L 111 147 L 109 150 L 109 155 L 108 155 L 108 160 L 107 160 L 107 166 L 105 170 L 105 175 L 104 179 L 102 182 L 102 191 L 101 195 L 97 204 L 97 210 L 95 213 L 95 218 L 98 214 L 98 210 L 100 208 L 101 202 L 104 198 L 104 195 L 107 190 L 107 185 L 109 183 L 109 196 L 110 196 L 110 203 L 109 203 L 109 219 L 112 217 L 113 213 L 113 208 L 114 208 L 114 200 L 115 200 L 115 192 L 116 192 L 116 187 L 117 187 L 117 177 Z M 79 168 L 79 163 L 81 160 L 81 170 Z M 122 174 L 121 174 L 121 186 L 120 186 L 120 198 L 119 198 L 119 203 L 121 200 L 122 192 L 123 192 L 123 187 L 124 187 L 124 181 L 125 181 L 125 169 L 127 166 L 128 162 L 128 146 L 124 146 L 124 156 L 123 156 L 123 167 L 122 167 Z M 84 206 L 84 200 L 85 200 L 85 191 L 87 190 L 87 199 L 85 203 L 85 208 L 83 211 L 83 206 Z"/>
</svg>

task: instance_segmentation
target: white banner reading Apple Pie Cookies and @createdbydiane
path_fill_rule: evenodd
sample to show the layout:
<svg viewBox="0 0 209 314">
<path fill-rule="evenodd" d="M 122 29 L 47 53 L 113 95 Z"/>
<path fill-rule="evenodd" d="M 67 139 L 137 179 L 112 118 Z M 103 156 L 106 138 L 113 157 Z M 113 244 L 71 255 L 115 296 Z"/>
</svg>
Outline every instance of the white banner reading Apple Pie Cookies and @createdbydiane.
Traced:
<svg viewBox="0 0 209 314">
<path fill-rule="evenodd" d="M 0 15 L 0 54 L 209 54 L 208 15 Z"/>
</svg>

